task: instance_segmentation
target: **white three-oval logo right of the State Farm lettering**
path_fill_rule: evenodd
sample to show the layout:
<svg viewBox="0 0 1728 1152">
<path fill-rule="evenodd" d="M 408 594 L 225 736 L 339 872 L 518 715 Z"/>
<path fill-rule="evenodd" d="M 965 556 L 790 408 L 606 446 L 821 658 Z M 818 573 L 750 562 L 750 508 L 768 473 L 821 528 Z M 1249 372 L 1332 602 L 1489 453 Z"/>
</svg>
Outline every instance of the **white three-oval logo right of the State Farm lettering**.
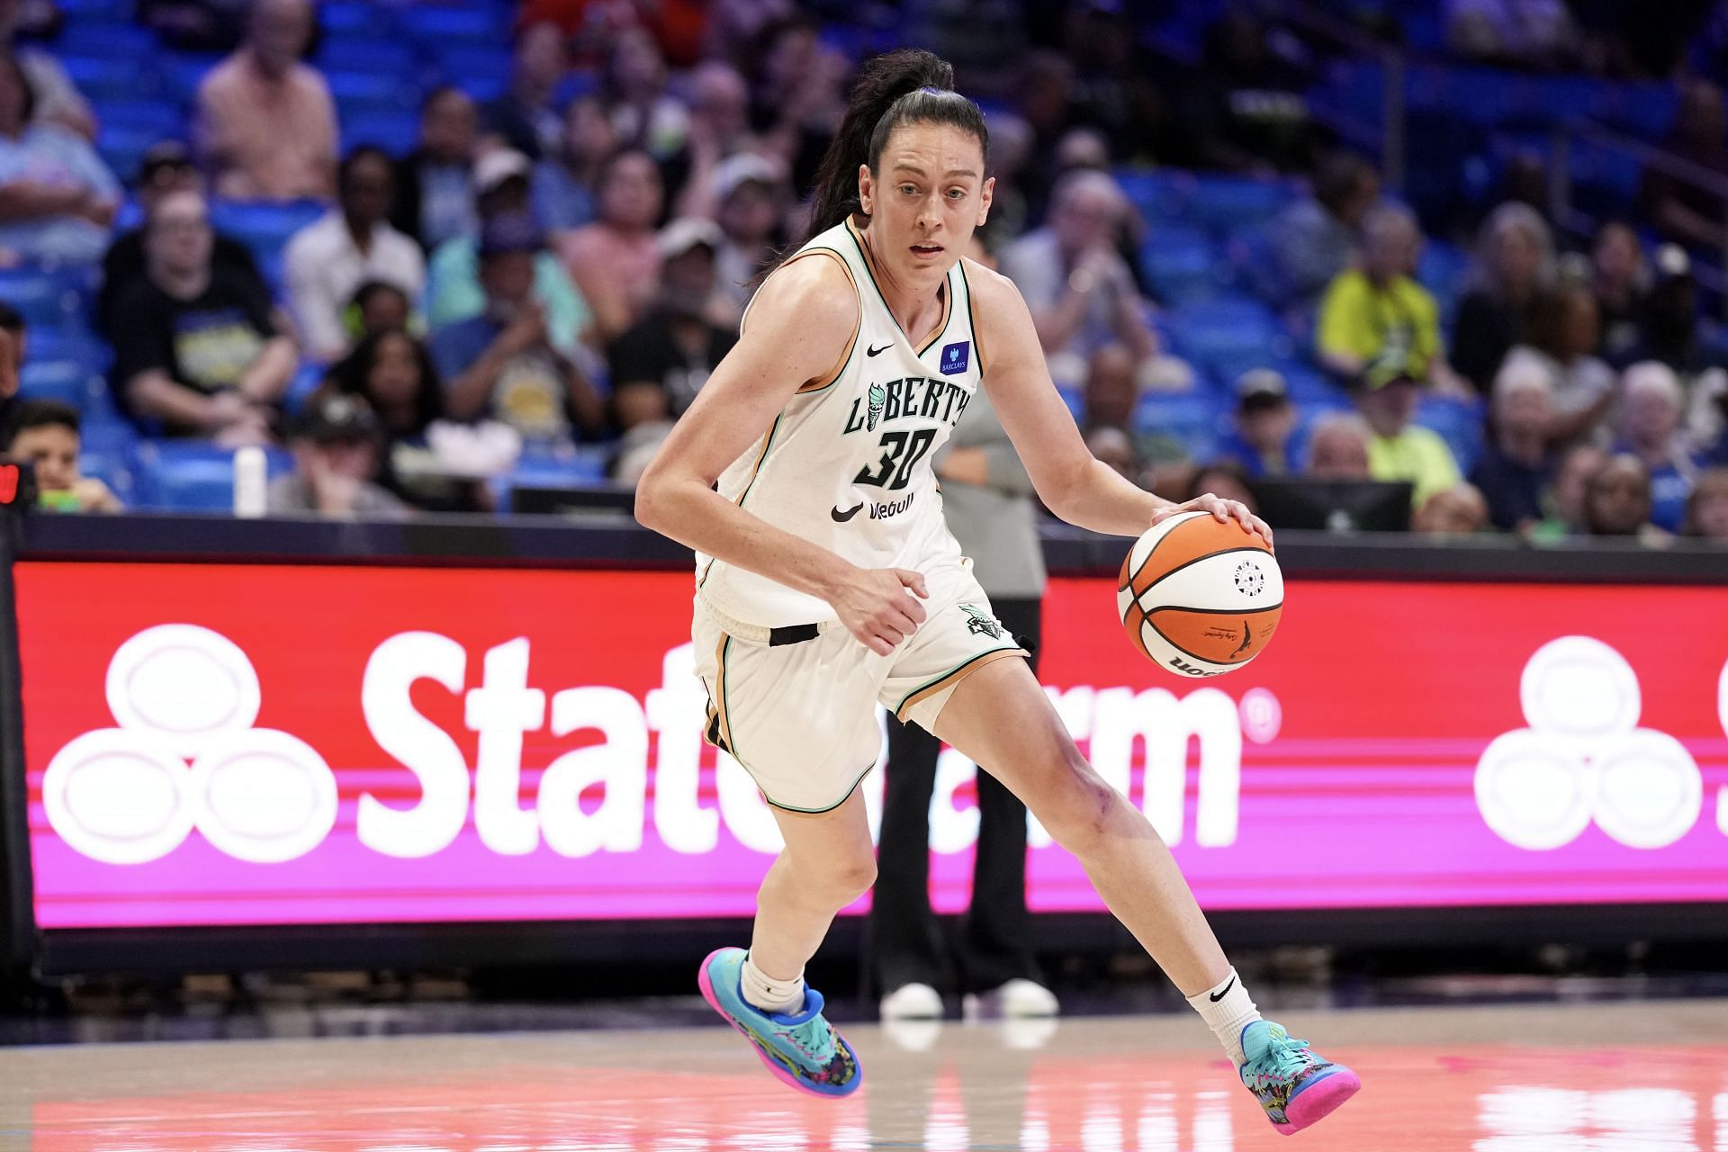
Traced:
<svg viewBox="0 0 1728 1152">
<path fill-rule="evenodd" d="M 1673 736 L 1638 727 L 1638 674 L 1617 651 L 1588 636 L 1543 644 L 1519 698 L 1529 727 L 1496 737 L 1476 765 L 1476 803 L 1502 839 L 1560 848 L 1595 822 L 1628 848 L 1666 848 L 1697 824 L 1699 765 Z M 1719 706 L 1728 729 L 1728 668 Z M 1719 822 L 1728 831 L 1728 789 Z"/>
</svg>

